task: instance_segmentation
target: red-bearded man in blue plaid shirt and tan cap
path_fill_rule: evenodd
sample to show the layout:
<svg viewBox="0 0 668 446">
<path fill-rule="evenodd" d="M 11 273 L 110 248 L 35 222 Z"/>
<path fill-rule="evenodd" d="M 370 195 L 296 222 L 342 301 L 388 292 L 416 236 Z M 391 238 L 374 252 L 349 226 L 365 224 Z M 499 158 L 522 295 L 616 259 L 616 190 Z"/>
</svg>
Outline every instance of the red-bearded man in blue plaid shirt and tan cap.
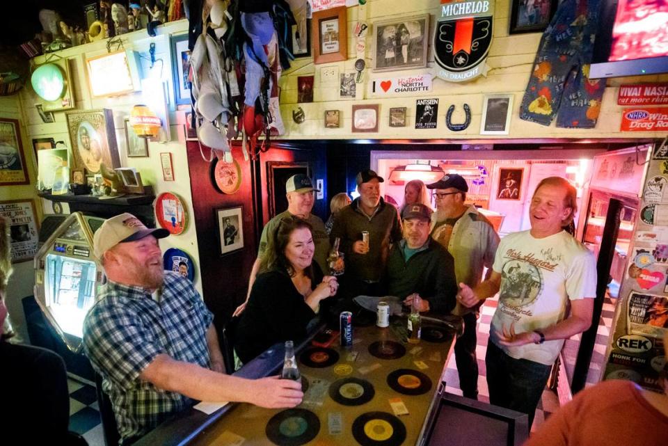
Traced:
<svg viewBox="0 0 668 446">
<path fill-rule="evenodd" d="M 84 321 L 84 349 L 109 394 L 122 444 L 133 443 L 193 400 L 268 408 L 301 402 L 301 383 L 223 374 L 213 314 L 192 283 L 164 271 L 158 239 L 132 214 L 109 218 L 93 250 L 109 279 Z"/>
</svg>

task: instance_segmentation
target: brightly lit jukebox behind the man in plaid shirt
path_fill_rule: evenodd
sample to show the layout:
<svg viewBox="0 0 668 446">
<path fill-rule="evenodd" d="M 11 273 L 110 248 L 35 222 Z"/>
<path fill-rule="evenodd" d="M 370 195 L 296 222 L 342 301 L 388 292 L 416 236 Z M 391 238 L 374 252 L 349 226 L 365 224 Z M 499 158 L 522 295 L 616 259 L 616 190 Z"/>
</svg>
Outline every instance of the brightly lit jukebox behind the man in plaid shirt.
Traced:
<svg viewBox="0 0 668 446">
<path fill-rule="evenodd" d="M 74 212 L 35 255 L 35 299 L 67 348 L 81 351 L 84 317 L 102 285 L 102 264 L 93 255 L 93 234 L 104 218 Z"/>
</svg>

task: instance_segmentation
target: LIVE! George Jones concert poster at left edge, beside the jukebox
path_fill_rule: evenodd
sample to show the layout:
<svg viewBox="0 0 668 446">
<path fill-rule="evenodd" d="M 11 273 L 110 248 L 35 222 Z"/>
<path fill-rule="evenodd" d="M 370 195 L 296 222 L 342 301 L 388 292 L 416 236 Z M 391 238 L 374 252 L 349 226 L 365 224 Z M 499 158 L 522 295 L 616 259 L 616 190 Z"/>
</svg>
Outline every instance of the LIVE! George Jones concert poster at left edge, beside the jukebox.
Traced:
<svg viewBox="0 0 668 446">
<path fill-rule="evenodd" d="M 39 225 L 33 200 L 0 201 L 0 217 L 9 226 L 12 263 L 32 260 L 37 253 Z"/>
</svg>

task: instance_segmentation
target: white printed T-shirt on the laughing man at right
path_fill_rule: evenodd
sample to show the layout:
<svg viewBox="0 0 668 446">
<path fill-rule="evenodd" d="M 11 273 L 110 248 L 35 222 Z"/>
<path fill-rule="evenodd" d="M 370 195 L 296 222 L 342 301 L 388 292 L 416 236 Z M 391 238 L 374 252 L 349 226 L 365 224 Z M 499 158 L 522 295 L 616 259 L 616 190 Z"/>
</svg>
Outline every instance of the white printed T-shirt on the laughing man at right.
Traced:
<svg viewBox="0 0 668 446">
<path fill-rule="evenodd" d="M 564 340 L 504 347 L 499 335 L 513 322 L 518 334 L 555 325 L 566 317 L 568 299 L 596 296 L 594 253 L 566 231 L 542 239 L 523 231 L 501 240 L 492 267 L 501 274 L 501 287 L 491 340 L 512 358 L 554 363 Z"/>
</svg>

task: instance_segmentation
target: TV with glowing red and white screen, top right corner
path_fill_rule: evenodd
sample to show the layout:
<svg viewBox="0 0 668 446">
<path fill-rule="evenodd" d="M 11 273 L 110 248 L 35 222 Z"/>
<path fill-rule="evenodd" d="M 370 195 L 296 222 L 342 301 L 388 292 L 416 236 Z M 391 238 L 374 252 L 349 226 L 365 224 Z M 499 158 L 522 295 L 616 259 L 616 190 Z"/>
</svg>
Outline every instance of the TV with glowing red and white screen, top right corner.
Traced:
<svg viewBox="0 0 668 446">
<path fill-rule="evenodd" d="M 668 0 L 604 0 L 589 77 L 668 72 Z"/>
</svg>

